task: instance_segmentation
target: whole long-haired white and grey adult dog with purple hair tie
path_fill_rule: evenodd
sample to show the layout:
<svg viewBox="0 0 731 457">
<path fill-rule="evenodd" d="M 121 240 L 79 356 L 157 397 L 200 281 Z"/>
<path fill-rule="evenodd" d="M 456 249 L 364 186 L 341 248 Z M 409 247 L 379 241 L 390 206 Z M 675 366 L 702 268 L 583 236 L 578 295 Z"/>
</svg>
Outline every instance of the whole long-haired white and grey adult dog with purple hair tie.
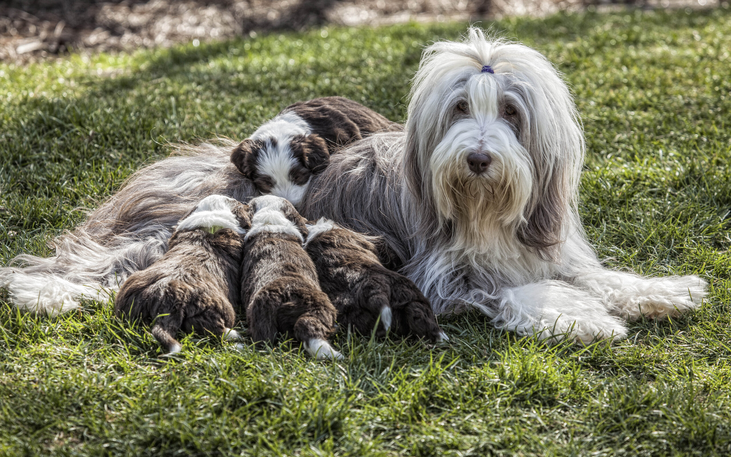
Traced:
<svg viewBox="0 0 731 457">
<path fill-rule="evenodd" d="M 140 170 L 61 238 L 57 257 L 23 257 L 30 268 L 1 269 L 0 286 L 46 312 L 89 289 L 77 284 L 114 287 L 162 255 L 171 227 L 206 194 L 257 194 L 225 162 L 231 147 Z M 472 28 L 463 42 L 425 49 L 406 131 L 333 156 L 298 209 L 382 236 L 437 313 L 474 306 L 521 334 L 619 338 L 622 318 L 697 307 L 697 276 L 645 278 L 596 259 L 577 212 L 583 154 L 575 105 L 550 61 Z M 42 281 L 53 284 L 46 295 Z"/>
</svg>

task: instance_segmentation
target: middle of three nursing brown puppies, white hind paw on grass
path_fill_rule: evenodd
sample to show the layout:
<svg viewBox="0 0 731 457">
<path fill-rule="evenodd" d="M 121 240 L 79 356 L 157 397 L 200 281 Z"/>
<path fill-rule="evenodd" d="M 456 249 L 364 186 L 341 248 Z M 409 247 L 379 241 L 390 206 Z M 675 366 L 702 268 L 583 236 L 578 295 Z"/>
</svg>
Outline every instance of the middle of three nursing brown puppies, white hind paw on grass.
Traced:
<svg viewBox="0 0 731 457">
<path fill-rule="evenodd" d="M 249 211 L 241 301 L 251 338 L 273 342 L 289 334 L 316 358 L 342 358 L 327 342 L 337 311 L 320 290 L 315 266 L 302 247 L 305 219 L 292 203 L 273 195 L 254 198 Z"/>
</svg>

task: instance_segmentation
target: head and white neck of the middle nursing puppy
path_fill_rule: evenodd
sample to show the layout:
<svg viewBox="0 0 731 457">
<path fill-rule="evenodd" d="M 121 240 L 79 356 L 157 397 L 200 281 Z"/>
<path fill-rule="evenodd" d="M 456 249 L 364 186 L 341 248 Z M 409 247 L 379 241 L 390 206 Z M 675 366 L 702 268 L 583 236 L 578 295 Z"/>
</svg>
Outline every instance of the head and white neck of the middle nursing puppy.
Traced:
<svg viewBox="0 0 731 457">
<path fill-rule="evenodd" d="M 307 238 L 306 219 L 282 197 L 262 195 L 249 201 L 251 230 L 246 239 L 260 232 L 287 233 L 304 241 Z"/>
</svg>

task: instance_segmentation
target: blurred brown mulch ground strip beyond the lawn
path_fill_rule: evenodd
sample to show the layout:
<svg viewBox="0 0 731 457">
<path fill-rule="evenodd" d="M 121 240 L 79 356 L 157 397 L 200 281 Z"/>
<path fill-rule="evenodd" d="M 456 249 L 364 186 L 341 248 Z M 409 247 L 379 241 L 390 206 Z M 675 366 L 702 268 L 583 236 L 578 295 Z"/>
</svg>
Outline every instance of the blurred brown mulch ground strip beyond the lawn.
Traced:
<svg viewBox="0 0 731 457">
<path fill-rule="evenodd" d="M 702 8 L 719 0 L 4 0 L 0 59 L 124 50 L 257 31 L 548 15 L 583 8 Z"/>
</svg>

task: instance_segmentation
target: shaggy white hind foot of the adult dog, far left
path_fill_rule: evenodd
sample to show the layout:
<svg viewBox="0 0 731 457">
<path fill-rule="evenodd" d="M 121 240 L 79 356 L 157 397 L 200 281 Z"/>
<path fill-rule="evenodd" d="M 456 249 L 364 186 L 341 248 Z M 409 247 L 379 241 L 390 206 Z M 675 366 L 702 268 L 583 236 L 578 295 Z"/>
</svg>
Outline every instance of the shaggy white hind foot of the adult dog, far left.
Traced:
<svg viewBox="0 0 731 457">
<path fill-rule="evenodd" d="M 79 307 L 81 298 L 105 301 L 107 291 L 100 286 L 74 284 L 50 274 L 26 274 L 5 269 L 0 287 L 10 292 L 10 301 L 23 311 L 56 316 Z"/>
</svg>

